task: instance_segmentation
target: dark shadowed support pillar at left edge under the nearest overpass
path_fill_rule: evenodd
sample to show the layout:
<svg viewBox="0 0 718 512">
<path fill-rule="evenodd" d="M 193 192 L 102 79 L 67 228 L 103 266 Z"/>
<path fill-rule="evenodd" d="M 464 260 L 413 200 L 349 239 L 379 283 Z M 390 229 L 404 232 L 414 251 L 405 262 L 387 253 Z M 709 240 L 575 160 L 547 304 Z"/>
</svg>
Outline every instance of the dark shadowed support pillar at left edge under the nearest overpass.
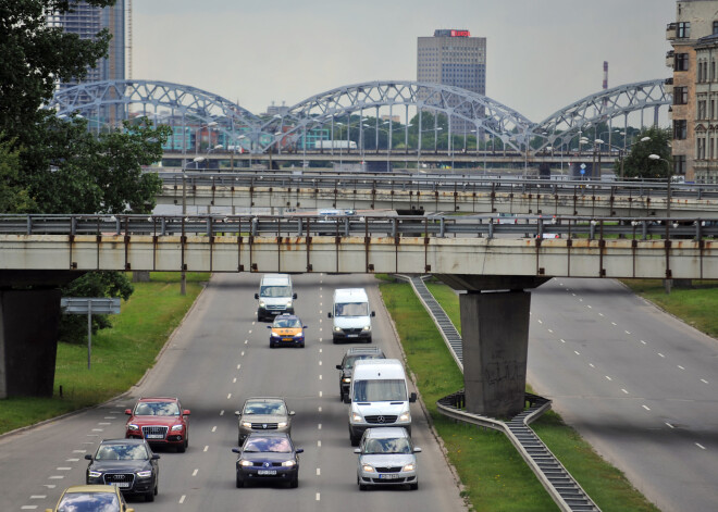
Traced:
<svg viewBox="0 0 718 512">
<path fill-rule="evenodd" d="M 60 290 L 0 290 L 0 398 L 51 397 Z"/>
</svg>

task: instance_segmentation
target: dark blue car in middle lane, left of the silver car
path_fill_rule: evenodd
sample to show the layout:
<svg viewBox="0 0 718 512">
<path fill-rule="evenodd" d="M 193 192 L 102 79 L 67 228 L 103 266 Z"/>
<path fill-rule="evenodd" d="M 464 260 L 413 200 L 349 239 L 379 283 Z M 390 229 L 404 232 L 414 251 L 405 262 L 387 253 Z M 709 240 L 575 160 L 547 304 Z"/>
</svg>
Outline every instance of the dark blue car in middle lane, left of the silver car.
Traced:
<svg viewBox="0 0 718 512">
<path fill-rule="evenodd" d="M 292 438 L 284 433 L 251 433 L 242 448 L 233 448 L 237 457 L 237 487 L 250 482 L 299 485 L 299 457 Z"/>
</svg>

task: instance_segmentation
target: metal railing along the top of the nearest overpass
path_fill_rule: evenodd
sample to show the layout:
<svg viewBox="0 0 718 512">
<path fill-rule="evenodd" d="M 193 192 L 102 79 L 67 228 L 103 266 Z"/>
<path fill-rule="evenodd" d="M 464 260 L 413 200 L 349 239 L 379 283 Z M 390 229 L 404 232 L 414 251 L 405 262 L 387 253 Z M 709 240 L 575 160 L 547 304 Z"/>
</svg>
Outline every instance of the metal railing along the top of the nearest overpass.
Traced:
<svg viewBox="0 0 718 512">
<path fill-rule="evenodd" d="M 516 223 L 515 223 L 516 222 Z M 270 237 L 608 238 L 702 240 L 718 236 L 718 218 L 321 215 L 0 215 L 0 234 L 205 235 Z"/>
</svg>

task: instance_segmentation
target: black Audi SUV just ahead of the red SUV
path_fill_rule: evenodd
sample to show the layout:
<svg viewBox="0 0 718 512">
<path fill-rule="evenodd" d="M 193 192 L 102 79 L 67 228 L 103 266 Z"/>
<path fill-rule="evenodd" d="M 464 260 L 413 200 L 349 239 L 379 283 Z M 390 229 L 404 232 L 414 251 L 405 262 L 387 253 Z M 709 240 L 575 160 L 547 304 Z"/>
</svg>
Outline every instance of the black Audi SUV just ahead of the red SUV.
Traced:
<svg viewBox="0 0 718 512">
<path fill-rule="evenodd" d="M 104 439 L 95 455 L 85 455 L 86 484 L 116 485 L 125 495 L 154 501 L 159 488 L 159 460 L 145 439 Z"/>
</svg>

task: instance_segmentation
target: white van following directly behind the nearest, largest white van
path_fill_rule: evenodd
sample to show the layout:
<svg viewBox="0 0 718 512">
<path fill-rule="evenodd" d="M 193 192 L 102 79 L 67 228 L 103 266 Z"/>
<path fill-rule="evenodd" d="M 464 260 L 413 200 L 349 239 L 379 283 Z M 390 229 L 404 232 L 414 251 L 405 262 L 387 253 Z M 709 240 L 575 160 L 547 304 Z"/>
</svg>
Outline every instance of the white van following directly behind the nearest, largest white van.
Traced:
<svg viewBox="0 0 718 512">
<path fill-rule="evenodd" d="M 338 288 L 334 290 L 334 305 L 326 314 L 333 319 L 332 339 L 366 341 L 371 344 L 371 317 L 376 313 L 369 310 L 369 297 L 363 288 Z"/>
</svg>

